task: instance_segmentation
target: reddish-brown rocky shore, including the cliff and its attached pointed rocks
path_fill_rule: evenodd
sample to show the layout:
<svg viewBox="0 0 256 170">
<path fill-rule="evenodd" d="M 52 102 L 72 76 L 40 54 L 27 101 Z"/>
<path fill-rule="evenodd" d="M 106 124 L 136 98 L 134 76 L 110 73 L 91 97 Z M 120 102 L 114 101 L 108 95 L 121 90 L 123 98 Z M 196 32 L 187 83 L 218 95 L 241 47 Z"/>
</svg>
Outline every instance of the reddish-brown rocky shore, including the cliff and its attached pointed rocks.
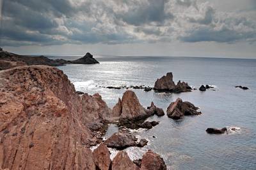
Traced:
<svg viewBox="0 0 256 170">
<path fill-rule="evenodd" d="M 143 108 L 135 93 L 126 91 L 112 110 L 99 94 L 78 95 L 67 75 L 51 66 L 3 70 L 0 72 L 0 167 L 166 169 L 163 158 L 152 151 L 145 153 L 138 167 L 124 151 L 111 161 L 103 144 L 95 151 L 90 150 L 90 146 L 102 143 L 99 132 L 107 123 L 116 119 L 143 120 L 156 114 L 155 108 Z M 133 144 L 143 147 L 147 140 L 132 141 Z"/>
</svg>

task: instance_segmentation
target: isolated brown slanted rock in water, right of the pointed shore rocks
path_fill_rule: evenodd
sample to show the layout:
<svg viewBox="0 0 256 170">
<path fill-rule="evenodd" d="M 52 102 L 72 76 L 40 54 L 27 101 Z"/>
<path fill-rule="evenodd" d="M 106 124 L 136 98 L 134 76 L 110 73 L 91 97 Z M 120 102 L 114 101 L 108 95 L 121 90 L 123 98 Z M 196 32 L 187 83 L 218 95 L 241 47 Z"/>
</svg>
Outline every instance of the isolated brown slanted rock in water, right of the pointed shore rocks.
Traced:
<svg viewBox="0 0 256 170">
<path fill-rule="evenodd" d="M 167 116 L 169 118 L 178 120 L 183 116 L 198 115 L 202 112 L 198 112 L 198 107 L 190 102 L 182 102 L 180 98 L 177 98 L 175 102 L 172 102 L 167 108 Z"/>
</svg>

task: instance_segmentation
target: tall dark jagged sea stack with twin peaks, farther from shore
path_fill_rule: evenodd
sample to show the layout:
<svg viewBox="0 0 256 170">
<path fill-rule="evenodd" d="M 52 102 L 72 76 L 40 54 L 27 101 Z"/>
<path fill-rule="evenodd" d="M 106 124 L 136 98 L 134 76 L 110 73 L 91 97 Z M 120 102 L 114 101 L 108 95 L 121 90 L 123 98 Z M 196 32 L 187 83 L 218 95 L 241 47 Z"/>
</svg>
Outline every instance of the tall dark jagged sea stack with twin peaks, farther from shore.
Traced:
<svg viewBox="0 0 256 170">
<path fill-rule="evenodd" d="M 191 91 L 191 87 L 188 85 L 187 82 L 178 82 L 177 85 L 173 82 L 173 75 L 172 72 L 166 73 L 160 79 L 157 79 L 155 82 L 154 89 L 157 91 L 168 91 L 174 93 L 186 92 Z"/>
</svg>

